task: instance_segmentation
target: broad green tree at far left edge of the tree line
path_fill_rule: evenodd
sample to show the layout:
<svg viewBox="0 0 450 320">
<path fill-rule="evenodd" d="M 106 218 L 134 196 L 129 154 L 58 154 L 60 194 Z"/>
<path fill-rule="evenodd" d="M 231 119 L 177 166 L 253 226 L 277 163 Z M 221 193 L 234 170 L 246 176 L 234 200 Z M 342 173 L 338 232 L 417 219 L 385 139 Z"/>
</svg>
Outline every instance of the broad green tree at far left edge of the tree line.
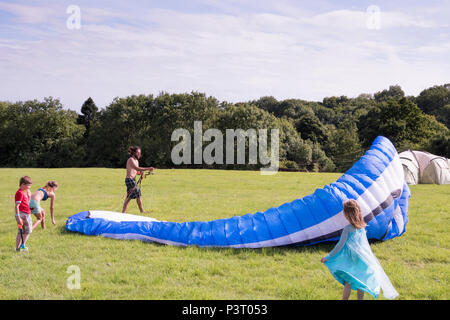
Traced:
<svg viewBox="0 0 450 320">
<path fill-rule="evenodd" d="M 82 165 L 84 129 L 77 114 L 64 110 L 58 99 L 3 103 L 0 163 L 13 167 L 68 167 Z"/>
</svg>

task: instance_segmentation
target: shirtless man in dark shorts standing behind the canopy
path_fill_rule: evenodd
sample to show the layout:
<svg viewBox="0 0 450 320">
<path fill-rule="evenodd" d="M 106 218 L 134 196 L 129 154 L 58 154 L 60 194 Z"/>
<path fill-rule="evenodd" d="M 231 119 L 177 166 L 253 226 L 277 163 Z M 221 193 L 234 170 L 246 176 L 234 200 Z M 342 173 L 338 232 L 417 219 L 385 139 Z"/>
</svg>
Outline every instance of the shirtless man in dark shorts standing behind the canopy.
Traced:
<svg viewBox="0 0 450 320">
<path fill-rule="evenodd" d="M 141 157 L 141 148 L 133 146 L 128 149 L 130 158 L 127 161 L 127 176 L 125 177 L 125 185 L 127 186 L 127 197 L 123 202 L 122 213 L 125 213 L 128 208 L 128 203 L 131 199 L 136 199 L 139 206 L 139 211 L 144 213 L 141 200 L 141 189 L 136 183 L 136 175 L 143 175 L 144 171 L 153 171 L 153 167 L 139 167 L 139 159 Z"/>
</svg>

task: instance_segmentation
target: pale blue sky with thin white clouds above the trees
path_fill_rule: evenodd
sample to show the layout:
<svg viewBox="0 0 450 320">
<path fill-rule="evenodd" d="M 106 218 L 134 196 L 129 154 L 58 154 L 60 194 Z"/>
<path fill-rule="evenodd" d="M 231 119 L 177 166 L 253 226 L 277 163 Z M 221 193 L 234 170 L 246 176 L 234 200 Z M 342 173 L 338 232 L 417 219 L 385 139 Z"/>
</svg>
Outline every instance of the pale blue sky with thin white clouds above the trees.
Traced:
<svg viewBox="0 0 450 320">
<path fill-rule="evenodd" d="M 0 101 L 418 95 L 450 82 L 448 17 L 448 0 L 0 0 Z"/>
</svg>

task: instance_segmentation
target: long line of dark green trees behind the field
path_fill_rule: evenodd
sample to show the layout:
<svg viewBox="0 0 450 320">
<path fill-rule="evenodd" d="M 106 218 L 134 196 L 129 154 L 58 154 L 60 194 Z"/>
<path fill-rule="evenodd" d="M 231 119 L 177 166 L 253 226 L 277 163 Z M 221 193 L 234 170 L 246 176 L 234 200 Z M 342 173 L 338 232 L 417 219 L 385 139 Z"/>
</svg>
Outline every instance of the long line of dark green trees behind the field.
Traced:
<svg viewBox="0 0 450 320">
<path fill-rule="evenodd" d="M 0 102 L 0 166 L 124 167 L 130 145 L 143 150 L 141 163 L 173 168 L 172 132 L 278 129 L 281 170 L 343 172 L 378 135 L 397 148 L 450 157 L 450 84 L 433 86 L 417 97 L 398 85 L 375 94 L 229 103 L 204 93 L 115 98 L 98 108 L 88 98 L 80 113 L 58 99 Z M 270 144 L 269 144 L 270 145 Z M 248 149 L 248 143 L 247 143 Z M 248 150 L 247 150 L 248 152 Z M 192 162 L 193 163 L 193 162 Z M 236 163 L 236 162 L 235 162 Z M 192 168 L 258 169 L 249 164 L 184 165 Z"/>
</svg>

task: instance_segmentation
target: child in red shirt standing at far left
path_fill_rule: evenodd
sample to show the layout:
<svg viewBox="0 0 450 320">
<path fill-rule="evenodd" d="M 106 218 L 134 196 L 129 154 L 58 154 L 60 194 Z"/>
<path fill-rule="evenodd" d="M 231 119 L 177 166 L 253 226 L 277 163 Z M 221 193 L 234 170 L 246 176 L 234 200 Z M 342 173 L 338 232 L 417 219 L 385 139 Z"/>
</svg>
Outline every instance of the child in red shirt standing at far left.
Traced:
<svg viewBox="0 0 450 320">
<path fill-rule="evenodd" d="M 17 225 L 19 226 L 16 237 L 16 251 L 20 251 L 21 249 L 24 251 L 28 251 L 28 248 L 25 247 L 25 243 L 27 242 L 27 239 L 32 232 L 33 225 L 29 205 L 31 197 L 30 187 L 32 184 L 33 181 L 30 177 L 23 176 L 22 178 L 20 178 L 20 187 L 15 195 L 16 221 Z"/>
</svg>

